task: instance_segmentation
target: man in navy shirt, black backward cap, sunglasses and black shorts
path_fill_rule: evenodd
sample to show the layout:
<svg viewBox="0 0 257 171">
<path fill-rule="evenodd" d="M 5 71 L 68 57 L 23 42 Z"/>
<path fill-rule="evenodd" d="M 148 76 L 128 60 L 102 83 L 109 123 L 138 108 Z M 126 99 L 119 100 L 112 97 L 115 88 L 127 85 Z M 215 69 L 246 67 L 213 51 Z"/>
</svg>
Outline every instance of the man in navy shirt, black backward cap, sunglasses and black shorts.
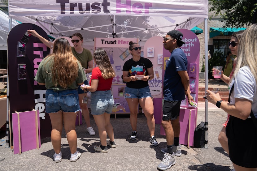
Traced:
<svg viewBox="0 0 257 171">
<path fill-rule="evenodd" d="M 175 165 L 175 156 L 181 156 L 179 146 L 179 112 L 182 100 L 185 96 L 189 102 L 193 100 L 190 95 L 189 76 L 187 74 L 187 58 L 181 47 L 183 34 L 172 30 L 163 37 L 163 46 L 171 53 L 168 59 L 163 80 L 163 120 L 162 126 L 165 130 L 167 148 L 162 148 L 165 153 L 162 162 L 157 166 L 160 170 L 167 170 Z"/>
</svg>

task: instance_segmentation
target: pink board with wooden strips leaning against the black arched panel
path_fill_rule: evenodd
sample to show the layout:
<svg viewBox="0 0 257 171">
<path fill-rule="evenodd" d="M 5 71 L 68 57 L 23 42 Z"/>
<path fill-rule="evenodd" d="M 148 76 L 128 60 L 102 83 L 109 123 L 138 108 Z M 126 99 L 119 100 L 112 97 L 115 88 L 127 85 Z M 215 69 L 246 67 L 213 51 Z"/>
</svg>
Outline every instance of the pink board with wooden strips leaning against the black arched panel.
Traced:
<svg viewBox="0 0 257 171">
<path fill-rule="evenodd" d="M 36 139 L 36 114 L 35 111 L 19 112 L 20 113 L 20 142 L 21 152 L 37 148 Z M 39 110 L 37 110 L 39 147 L 40 140 L 40 121 Z M 13 129 L 13 151 L 14 154 L 19 153 L 19 132 L 18 132 L 18 114 L 12 113 L 12 129 Z"/>
</svg>

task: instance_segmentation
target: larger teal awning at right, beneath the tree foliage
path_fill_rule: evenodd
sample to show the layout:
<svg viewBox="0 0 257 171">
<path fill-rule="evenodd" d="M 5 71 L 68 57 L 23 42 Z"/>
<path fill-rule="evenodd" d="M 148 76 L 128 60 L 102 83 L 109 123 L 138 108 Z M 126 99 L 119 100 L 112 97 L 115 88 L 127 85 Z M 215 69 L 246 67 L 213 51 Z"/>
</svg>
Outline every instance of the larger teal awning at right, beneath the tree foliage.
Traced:
<svg viewBox="0 0 257 171">
<path fill-rule="evenodd" d="M 231 36 L 233 32 L 240 30 L 246 30 L 246 28 L 222 28 L 222 27 L 210 27 L 210 38 L 215 36 Z"/>
</svg>

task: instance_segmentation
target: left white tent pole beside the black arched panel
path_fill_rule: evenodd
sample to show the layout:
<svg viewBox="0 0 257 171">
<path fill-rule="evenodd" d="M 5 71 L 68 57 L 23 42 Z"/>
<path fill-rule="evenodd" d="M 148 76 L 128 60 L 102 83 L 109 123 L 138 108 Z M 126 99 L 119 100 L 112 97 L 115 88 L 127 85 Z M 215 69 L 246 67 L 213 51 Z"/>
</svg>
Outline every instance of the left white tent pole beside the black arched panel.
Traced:
<svg viewBox="0 0 257 171">
<path fill-rule="evenodd" d="M 12 28 L 12 17 L 9 18 L 9 32 L 11 31 Z M 8 47 L 8 45 L 7 45 Z M 7 53 L 7 58 L 8 58 L 8 53 Z M 8 73 L 8 60 L 7 60 L 7 75 Z M 9 121 L 9 77 L 7 76 L 7 112 L 6 112 L 6 148 L 10 148 L 10 121 Z"/>
</svg>

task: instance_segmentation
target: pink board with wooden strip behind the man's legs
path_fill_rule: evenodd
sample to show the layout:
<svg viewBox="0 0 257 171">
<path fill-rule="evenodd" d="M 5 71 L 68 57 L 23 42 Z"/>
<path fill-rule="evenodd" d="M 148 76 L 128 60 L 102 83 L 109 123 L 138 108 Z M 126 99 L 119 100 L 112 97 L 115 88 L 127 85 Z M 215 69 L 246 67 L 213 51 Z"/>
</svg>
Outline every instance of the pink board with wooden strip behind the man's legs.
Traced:
<svg viewBox="0 0 257 171">
<path fill-rule="evenodd" d="M 191 121 L 190 121 L 190 136 L 189 146 L 194 146 L 194 129 L 196 127 L 196 110 L 195 109 L 180 109 L 180 135 L 179 143 L 188 145 L 188 132 L 189 132 L 189 111 L 191 110 Z M 161 125 L 160 134 L 165 135 L 163 126 Z"/>
</svg>

